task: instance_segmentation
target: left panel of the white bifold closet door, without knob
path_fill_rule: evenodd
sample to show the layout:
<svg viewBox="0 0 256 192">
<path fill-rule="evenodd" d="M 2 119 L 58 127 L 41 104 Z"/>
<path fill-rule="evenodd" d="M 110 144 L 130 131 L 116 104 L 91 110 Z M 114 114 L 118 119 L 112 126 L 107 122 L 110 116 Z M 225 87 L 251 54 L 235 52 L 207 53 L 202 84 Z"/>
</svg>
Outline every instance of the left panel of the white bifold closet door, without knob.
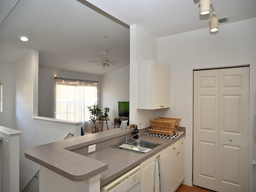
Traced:
<svg viewBox="0 0 256 192">
<path fill-rule="evenodd" d="M 218 191 L 219 70 L 194 72 L 193 184 Z"/>
</svg>

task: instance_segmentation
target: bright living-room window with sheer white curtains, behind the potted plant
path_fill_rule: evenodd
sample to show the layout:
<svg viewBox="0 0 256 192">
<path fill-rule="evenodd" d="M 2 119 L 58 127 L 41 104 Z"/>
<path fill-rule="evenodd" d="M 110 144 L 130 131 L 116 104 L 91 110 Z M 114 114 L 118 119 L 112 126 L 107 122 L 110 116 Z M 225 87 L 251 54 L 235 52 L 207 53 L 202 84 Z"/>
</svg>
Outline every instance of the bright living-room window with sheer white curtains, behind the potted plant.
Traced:
<svg viewBox="0 0 256 192">
<path fill-rule="evenodd" d="M 85 122 L 97 103 L 97 82 L 56 78 L 56 119 Z"/>
</svg>

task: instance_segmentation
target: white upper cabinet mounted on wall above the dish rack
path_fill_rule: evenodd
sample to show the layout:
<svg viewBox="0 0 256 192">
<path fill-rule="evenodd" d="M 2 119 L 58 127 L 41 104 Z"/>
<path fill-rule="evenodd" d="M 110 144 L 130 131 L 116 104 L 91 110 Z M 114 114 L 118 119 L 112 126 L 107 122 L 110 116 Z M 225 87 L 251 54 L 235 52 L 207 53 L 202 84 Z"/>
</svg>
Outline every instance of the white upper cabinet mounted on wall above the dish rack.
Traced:
<svg viewBox="0 0 256 192">
<path fill-rule="evenodd" d="M 170 107 L 170 66 L 154 60 L 137 65 L 137 109 Z"/>
</svg>

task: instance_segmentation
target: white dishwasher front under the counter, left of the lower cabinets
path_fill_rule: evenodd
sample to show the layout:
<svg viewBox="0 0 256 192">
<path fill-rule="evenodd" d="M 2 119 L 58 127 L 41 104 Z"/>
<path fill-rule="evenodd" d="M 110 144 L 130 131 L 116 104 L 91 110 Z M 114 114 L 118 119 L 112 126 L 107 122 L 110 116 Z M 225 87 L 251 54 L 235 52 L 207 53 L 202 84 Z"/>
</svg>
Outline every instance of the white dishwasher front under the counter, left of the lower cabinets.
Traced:
<svg viewBox="0 0 256 192">
<path fill-rule="evenodd" d="M 104 185 L 101 192 L 140 192 L 140 165 Z"/>
</svg>

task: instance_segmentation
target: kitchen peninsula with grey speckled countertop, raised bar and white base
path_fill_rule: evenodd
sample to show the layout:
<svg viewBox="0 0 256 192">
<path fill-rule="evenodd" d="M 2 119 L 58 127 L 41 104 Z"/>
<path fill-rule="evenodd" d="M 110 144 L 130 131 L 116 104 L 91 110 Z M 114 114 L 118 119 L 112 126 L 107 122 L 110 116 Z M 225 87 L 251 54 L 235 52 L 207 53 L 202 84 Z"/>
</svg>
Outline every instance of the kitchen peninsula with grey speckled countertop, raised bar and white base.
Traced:
<svg viewBox="0 0 256 192">
<path fill-rule="evenodd" d="M 144 135 L 146 132 L 148 128 L 140 129 L 141 140 L 162 144 L 145 154 L 112 148 L 124 142 L 126 134 L 133 133 L 116 128 L 36 146 L 26 150 L 25 157 L 40 165 L 40 192 L 100 191 L 100 187 L 185 136 L 167 139 Z M 88 154 L 92 144 L 96 144 L 96 151 Z"/>
</svg>

